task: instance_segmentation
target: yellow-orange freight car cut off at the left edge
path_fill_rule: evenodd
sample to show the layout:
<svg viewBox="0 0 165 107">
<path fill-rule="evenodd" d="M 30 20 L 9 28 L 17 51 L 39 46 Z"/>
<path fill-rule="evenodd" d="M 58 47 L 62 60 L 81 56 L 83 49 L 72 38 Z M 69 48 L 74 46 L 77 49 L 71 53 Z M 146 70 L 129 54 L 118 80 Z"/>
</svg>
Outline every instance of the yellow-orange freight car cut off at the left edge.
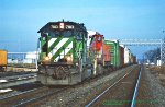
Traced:
<svg viewBox="0 0 165 107">
<path fill-rule="evenodd" d="M 0 71 L 7 70 L 7 50 L 0 50 Z"/>
</svg>

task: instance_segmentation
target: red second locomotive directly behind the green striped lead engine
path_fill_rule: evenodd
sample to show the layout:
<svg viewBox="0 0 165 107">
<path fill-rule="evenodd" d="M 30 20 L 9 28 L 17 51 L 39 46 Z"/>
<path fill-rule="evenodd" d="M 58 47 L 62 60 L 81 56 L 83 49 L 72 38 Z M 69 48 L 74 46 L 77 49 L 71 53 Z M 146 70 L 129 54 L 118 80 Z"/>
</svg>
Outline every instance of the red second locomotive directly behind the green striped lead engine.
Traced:
<svg viewBox="0 0 165 107">
<path fill-rule="evenodd" d="M 110 68 L 110 46 L 105 44 L 103 35 L 96 33 L 91 36 L 90 41 L 90 58 L 94 64 L 94 76 L 106 73 L 105 68 Z M 109 69 L 107 69 L 109 70 Z"/>
</svg>

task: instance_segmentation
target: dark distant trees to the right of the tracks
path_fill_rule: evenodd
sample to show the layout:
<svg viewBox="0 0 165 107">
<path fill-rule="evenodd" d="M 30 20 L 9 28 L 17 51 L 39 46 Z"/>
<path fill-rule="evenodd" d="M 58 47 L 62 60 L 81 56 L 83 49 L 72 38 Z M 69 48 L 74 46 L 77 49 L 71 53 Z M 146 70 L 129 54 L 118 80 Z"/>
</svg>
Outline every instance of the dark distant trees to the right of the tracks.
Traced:
<svg viewBox="0 0 165 107">
<path fill-rule="evenodd" d="M 161 48 L 148 50 L 145 54 L 145 58 L 150 60 L 150 62 L 155 62 L 161 59 Z"/>
</svg>

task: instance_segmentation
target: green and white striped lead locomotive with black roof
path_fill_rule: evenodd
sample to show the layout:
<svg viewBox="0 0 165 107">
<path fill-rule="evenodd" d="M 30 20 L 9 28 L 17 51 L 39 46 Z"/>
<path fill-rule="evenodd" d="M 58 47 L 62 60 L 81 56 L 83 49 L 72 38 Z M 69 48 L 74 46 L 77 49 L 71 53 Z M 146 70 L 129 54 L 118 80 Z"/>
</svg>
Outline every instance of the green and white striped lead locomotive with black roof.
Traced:
<svg viewBox="0 0 165 107">
<path fill-rule="evenodd" d="M 38 33 L 37 81 L 72 85 L 91 76 L 87 67 L 87 29 L 82 23 L 50 22 Z"/>
</svg>

